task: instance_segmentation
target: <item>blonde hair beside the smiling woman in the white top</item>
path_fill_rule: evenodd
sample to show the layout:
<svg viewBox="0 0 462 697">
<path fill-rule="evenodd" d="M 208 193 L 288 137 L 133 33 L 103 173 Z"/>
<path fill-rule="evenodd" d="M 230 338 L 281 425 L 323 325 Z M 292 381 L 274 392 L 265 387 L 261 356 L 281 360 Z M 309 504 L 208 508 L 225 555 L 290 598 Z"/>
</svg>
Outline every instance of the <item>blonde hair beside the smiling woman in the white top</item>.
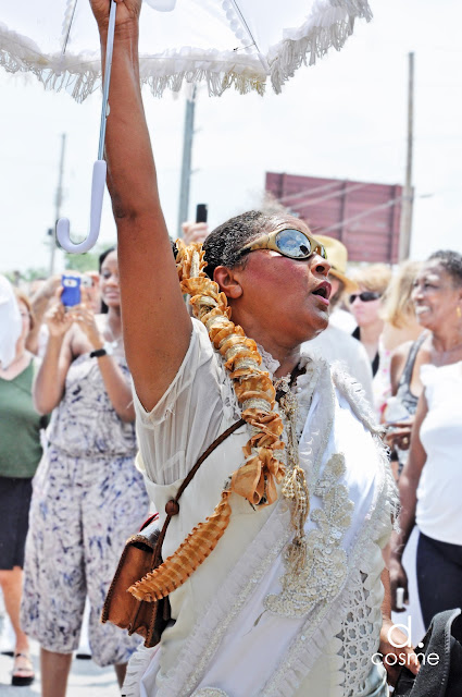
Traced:
<svg viewBox="0 0 462 697">
<path fill-rule="evenodd" d="M 421 261 L 401 264 L 385 291 L 380 317 L 396 329 L 402 329 L 415 317 L 412 289 L 421 266 Z"/>
</svg>

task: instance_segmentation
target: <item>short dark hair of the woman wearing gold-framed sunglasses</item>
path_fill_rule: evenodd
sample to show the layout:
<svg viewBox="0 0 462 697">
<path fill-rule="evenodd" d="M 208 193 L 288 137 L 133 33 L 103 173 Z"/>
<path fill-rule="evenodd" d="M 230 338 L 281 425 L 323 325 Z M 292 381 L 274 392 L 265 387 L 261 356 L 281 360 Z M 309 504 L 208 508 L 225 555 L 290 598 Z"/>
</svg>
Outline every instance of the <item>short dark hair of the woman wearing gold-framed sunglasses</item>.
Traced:
<svg viewBox="0 0 462 697">
<path fill-rule="evenodd" d="M 248 210 L 218 225 L 203 243 L 205 273 L 213 280 L 213 273 L 218 266 L 226 266 L 229 269 L 244 266 L 246 256 L 240 255 L 241 248 L 262 233 L 272 232 L 285 222 L 297 228 L 302 225 L 308 232 L 307 224 L 297 218 L 279 212 L 264 213 L 261 210 Z"/>
</svg>

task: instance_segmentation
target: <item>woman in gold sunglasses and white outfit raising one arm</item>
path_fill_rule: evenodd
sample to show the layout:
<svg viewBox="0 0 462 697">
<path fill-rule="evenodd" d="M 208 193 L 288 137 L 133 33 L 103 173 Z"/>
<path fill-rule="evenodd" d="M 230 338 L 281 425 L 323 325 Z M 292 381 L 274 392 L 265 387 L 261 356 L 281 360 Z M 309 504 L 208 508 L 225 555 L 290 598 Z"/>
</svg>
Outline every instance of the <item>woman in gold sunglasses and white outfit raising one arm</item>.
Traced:
<svg viewBox="0 0 462 697">
<path fill-rule="evenodd" d="M 110 3 L 91 5 L 104 54 Z M 300 354 L 328 321 L 325 250 L 300 220 L 250 211 L 203 250 L 179 245 L 175 267 L 140 94 L 141 2 L 117 5 L 107 160 L 123 331 L 138 464 L 160 525 L 172 515 L 164 563 L 130 588 L 170 594 L 172 619 L 124 695 L 385 697 L 395 485 L 351 381 Z"/>
</svg>

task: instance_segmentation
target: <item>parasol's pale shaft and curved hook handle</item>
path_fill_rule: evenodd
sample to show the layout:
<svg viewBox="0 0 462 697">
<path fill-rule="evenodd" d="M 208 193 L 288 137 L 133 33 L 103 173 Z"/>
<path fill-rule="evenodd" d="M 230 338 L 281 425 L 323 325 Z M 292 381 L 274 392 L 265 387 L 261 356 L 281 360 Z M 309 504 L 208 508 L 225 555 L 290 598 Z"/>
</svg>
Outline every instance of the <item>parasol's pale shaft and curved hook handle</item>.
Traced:
<svg viewBox="0 0 462 697">
<path fill-rule="evenodd" d="M 93 164 L 93 175 L 91 180 L 91 204 L 90 204 L 90 230 L 87 237 L 77 244 L 71 240 L 70 234 L 70 221 L 67 218 L 60 218 L 57 223 L 57 239 L 60 245 L 65 252 L 72 254 L 83 254 L 88 252 L 96 244 L 101 225 L 101 211 L 102 200 L 104 197 L 105 185 L 105 172 L 107 164 L 103 159 L 104 154 L 104 138 L 105 138 L 105 122 L 109 114 L 109 85 L 111 83 L 111 65 L 112 65 L 112 52 L 114 47 L 114 29 L 115 29 L 115 12 L 117 4 L 114 0 L 111 0 L 111 12 L 109 15 L 109 28 L 108 28 L 108 45 L 105 49 L 105 73 L 102 91 L 102 108 L 101 108 L 101 126 L 98 147 L 98 160 Z"/>
</svg>

